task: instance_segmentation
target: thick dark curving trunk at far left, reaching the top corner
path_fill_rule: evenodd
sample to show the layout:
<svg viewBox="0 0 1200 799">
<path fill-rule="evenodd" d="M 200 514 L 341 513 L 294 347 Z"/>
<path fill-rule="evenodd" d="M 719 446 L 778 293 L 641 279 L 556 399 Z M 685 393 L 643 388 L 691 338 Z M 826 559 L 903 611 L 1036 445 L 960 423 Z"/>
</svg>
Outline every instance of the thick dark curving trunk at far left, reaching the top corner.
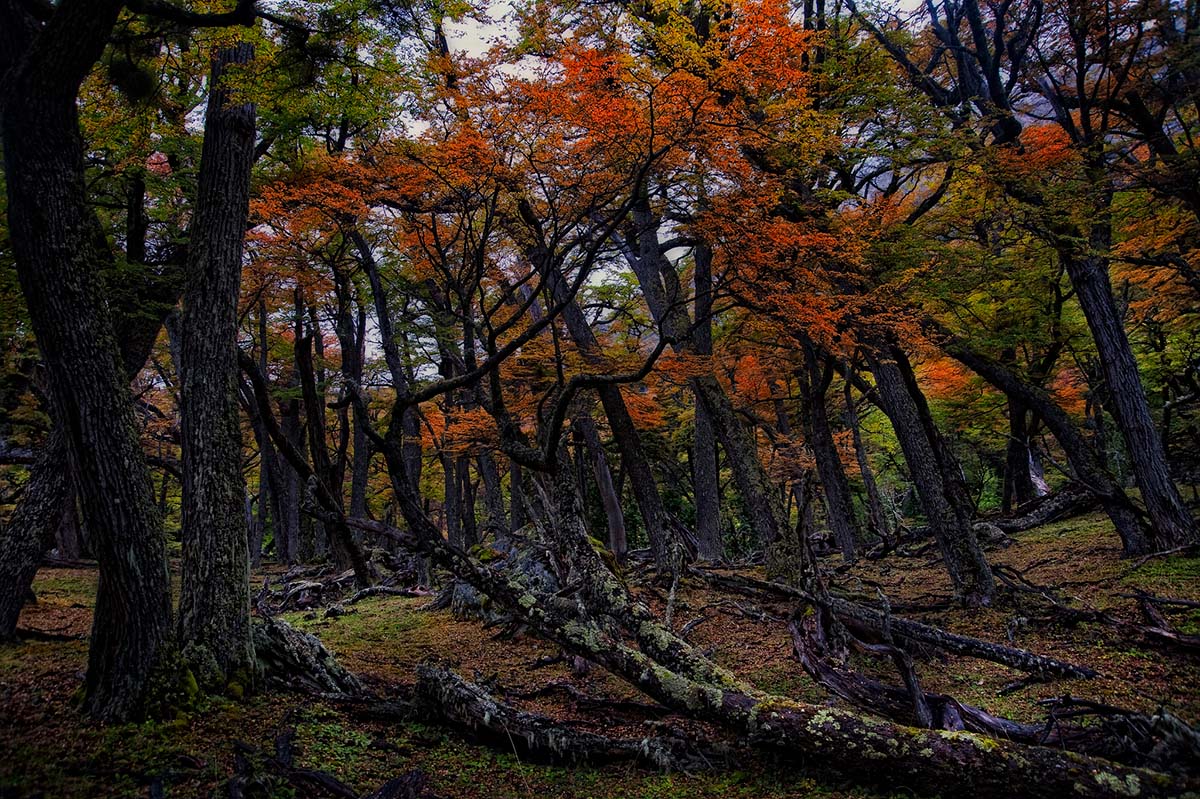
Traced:
<svg viewBox="0 0 1200 799">
<path fill-rule="evenodd" d="M 76 101 L 121 6 L 67 0 L 36 38 L 16 5 L 0 10 L 12 250 L 101 569 L 84 707 L 113 721 L 142 711 L 170 630 L 162 525 L 101 286 L 112 254 L 88 204 Z"/>
</svg>

